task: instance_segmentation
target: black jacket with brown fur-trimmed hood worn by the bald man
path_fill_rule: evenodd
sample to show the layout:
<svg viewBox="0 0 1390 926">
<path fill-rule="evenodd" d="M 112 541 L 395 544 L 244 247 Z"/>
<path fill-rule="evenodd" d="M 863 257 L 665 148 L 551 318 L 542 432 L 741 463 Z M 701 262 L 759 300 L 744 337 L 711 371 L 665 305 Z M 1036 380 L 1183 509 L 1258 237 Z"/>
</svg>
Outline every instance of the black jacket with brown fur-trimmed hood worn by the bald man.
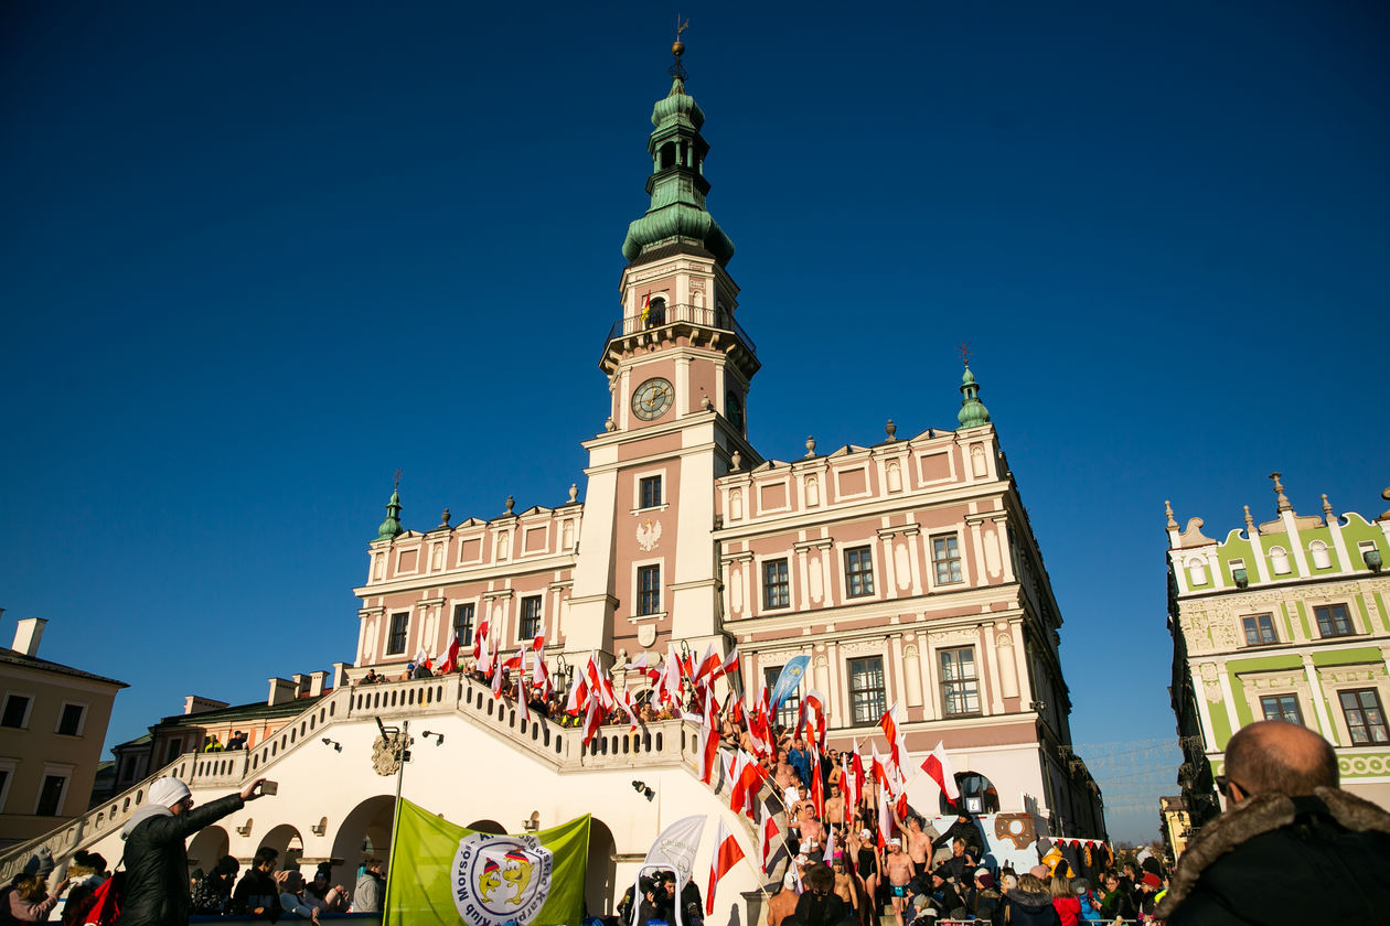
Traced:
<svg viewBox="0 0 1390 926">
<path fill-rule="evenodd" d="M 1168 926 L 1383 923 L 1390 814 L 1330 787 L 1258 794 L 1188 844 L 1154 911 Z"/>
</svg>

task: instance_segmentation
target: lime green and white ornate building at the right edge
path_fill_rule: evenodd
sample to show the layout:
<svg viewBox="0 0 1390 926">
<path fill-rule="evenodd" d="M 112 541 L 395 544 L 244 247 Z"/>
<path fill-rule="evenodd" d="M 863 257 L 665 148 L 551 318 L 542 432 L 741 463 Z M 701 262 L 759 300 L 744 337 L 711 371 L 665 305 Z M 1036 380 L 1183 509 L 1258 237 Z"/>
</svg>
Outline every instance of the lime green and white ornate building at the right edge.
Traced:
<svg viewBox="0 0 1390 926">
<path fill-rule="evenodd" d="M 1343 787 L 1390 808 L 1390 511 L 1334 515 L 1322 496 L 1322 516 L 1300 515 L 1270 479 L 1275 519 L 1257 525 L 1245 505 L 1223 540 L 1201 518 L 1179 529 L 1168 505 L 1170 693 L 1194 826 L 1220 809 L 1226 743 L 1264 719 L 1318 730 Z"/>
</svg>

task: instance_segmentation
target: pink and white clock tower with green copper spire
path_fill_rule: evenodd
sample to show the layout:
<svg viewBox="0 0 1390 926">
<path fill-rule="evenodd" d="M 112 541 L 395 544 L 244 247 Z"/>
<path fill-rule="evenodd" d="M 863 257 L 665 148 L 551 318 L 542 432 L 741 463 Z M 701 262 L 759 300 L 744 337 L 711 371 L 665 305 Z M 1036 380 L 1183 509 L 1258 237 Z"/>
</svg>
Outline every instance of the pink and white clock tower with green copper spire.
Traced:
<svg viewBox="0 0 1390 926">
<path fill-rule="evenodd" d="M 635 659 L 685 640 L 724 653 L 714 479 L 762 458 L 748 443 L 753 342 L 735 321 L 734 243 L 706 210 L 705 112 L 685 92 L 684 46 L 652 108 L 651 205 L 623 242 L 619 319 L 599 368 L 610 407 L 585 441 L 588 490 L 566 648 Z"/>
</svg>

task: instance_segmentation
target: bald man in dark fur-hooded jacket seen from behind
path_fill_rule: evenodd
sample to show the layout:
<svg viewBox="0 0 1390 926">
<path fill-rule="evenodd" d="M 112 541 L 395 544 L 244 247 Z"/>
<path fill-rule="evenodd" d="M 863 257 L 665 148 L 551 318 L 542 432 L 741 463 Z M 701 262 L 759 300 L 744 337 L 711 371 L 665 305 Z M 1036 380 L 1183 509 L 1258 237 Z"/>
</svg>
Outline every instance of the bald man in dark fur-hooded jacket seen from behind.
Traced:
<svg viewBox="0 0 1390 926">
<path fill-rule="evenodd" d="M 1332 746 L 1297 723 L 1230 737 L 1226 812 L 1179 861 L 1154 916 L 1168 926 L 1384 922 L 1390 814 L 1337 787 Z"/>
</svg>

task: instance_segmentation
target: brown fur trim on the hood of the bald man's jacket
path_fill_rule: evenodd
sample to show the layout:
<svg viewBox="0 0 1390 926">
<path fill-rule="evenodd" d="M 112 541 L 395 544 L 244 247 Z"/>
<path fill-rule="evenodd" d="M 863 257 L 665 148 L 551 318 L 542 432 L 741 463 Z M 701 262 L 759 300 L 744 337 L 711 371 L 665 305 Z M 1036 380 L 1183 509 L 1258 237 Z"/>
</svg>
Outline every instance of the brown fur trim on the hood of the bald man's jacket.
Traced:
<svg viewBox="0 0 1390 926">
<path fill-rule="evenodd" d="M 1312 797 L 1257 794 L 1236 804 L 1208 823 L 1187 845 L 1168 894 L 1154 909 L 1155 919 L 1168 919 L 1193 893 L 1202 872 L 1244 843 L 1291 825 L 1300 815 L 1326 815 L 1352 833 L 1390 834 L 1390 814 L 1355 794 L 1319 787 Z"/>
</svg>

